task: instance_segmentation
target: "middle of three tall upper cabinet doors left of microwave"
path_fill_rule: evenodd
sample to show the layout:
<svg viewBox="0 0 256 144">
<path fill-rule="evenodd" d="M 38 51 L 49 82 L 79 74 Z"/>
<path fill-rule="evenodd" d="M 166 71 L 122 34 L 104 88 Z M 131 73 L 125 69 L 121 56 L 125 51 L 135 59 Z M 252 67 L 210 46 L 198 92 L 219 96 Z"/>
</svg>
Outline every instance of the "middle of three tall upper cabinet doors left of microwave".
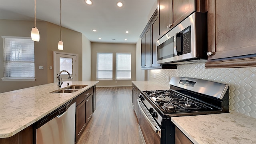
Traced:
<svg viewBox="0 0 256 144">
<path fill-rule="evenodd" d="M 151 66 L 151 28 L 148 28 L 146 34 L 146 67 Z"/>
</svg>

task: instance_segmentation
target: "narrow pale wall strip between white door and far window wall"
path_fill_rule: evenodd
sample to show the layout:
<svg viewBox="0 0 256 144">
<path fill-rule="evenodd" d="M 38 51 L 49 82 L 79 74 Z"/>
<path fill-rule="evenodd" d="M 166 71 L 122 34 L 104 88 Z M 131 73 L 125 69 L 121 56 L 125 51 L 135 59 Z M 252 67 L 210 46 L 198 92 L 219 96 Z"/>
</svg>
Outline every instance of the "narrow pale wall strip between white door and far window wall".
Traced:
<svg viewBox="0 0 256 144">
<path fill-rule="evenodd" d="M 83 81 L 91 81 L 91 42 L 86 38 L 83 37 Z"/>
</svg>

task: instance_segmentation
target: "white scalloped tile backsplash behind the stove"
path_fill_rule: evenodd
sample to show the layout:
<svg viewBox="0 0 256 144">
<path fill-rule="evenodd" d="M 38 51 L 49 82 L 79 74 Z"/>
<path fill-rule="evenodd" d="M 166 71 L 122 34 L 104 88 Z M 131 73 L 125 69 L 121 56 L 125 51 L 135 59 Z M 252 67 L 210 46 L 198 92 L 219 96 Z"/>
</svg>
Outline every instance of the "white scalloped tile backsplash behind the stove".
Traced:
<svg viewBox="0 0 256 144">
<path fill-rule="evenodd" d="M 148 80 L 169 88 L 169 77 L 183 76 L 229 85 L 229 109 L 256 118 L 256 67 L 205 68 L 204 62 L 180 64 L 175 70 L 148 70 Z M 154 75 L 155 74 L 155 75 Z M 156 78 L 153 78 L 153 75 Z"/>
</svg>

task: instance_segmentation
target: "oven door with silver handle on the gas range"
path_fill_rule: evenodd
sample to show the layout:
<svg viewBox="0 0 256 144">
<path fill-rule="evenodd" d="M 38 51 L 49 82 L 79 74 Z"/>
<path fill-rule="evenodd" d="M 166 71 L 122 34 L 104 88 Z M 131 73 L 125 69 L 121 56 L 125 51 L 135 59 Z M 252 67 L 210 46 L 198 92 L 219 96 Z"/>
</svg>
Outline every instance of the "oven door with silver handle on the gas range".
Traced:
<svg viewBox="0 0 256 144">
<path fill-rule="evenodd" d="M 140 100 L 138 100 L 138 122 L 140 144 L 160 144 L 161 129 Z"/>
</svg>

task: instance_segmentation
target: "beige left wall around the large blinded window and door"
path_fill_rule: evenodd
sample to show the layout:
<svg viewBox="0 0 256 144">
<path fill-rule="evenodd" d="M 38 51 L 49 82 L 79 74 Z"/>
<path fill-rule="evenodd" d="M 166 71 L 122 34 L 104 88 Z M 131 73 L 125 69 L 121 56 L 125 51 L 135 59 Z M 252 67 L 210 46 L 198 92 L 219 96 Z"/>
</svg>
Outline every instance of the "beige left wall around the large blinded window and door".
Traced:
<svg viewBox="0 0 256 144">
<path fill-rule="evenodd" d="M 0 36 L 30 37 L 33 21 L 0 20 Z M 0 80 L 0 93 L 31 86 L 38 86 L 53 82 L 53 51 L 58 51 L 60 40 L 60 26 L 49 22 L 37 22 L 40 32 L 40 42 L 35 42 L 35 77 L 36 81 L 2 81 Z M 64 49 L 61 52 L 78 54 L 78 80 L 82 80 L 82 34 L 73 30 L 62 28 L 62 41 Z M 3 39 L 0 39 L 0 78 L 3 77 Z M 39 70 L 44 66 L 44 70 Z"/>
</svg>

